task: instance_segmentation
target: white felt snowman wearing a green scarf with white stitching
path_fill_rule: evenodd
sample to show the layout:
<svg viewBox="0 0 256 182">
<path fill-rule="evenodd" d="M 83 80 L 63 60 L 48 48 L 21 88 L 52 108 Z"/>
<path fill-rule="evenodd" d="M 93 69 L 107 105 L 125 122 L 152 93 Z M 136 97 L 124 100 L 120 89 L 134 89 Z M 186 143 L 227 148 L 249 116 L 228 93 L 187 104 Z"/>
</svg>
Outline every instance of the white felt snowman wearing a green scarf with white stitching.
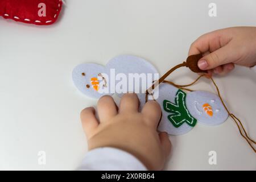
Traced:
<svg viewBox="0 0 256 182">
<path fill-rule="evenodd" d="M 196 123 L 214 126 L 228 118 L 220 98 L 205 91 L 183 92 L 170 84 L 159 85 L 159 97 L 156 100 L 162 109 L 162 119 L 158 130 L 170 135 L 185 134 Z"/>
</svg>

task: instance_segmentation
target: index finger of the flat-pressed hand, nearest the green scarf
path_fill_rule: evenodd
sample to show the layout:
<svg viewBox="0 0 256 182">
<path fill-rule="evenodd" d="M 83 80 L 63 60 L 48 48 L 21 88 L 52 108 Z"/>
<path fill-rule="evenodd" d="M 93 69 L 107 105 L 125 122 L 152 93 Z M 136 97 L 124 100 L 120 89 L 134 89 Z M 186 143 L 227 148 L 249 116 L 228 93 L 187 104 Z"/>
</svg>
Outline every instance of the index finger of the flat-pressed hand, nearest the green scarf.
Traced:
<svg viewBox="0 0 256 182">
<path fill-rule="evenodd" d="M 148 125 L 153 126 L 155 129 L 161 117 L 161 107 L 158 102 L 150 100 L 143 106 L 141 113 L 145 118 Z"/>
</svg>

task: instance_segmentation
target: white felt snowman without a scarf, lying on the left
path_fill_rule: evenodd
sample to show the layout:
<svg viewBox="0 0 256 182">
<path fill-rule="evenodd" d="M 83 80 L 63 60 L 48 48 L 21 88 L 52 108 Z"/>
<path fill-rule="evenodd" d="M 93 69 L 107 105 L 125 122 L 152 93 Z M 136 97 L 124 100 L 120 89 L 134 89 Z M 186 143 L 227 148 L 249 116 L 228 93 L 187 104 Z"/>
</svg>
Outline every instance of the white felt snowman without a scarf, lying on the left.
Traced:
<svg viewBox="0 0 256 182">
<path fill-rule="evenodd" d="M 82 75 L 82 73 L 85 75 Z M 101 75 L 106 75 L 104 76 L 106 86 L 102 86 L 104 85 L 104 81 L 100 80 L 101 77 L 98 77 L 99 73 L 101 73 Z M 130 84 L 129 80 L 131 79 L 129 78 L 129 74 L 133 76 L 136 76 L 134 74 L 137 74 L 137 80 L 140 79 L 141 74 L 143 74 L 146 76 L 146 81 L 143 81 L 142 76 L 141 80 L 135 81 L 136 78 L 134 78 L 133 84 Z M 151 75 L 151 77 L 149 75 Z M 119 80 L 117 80 L 118 76 L 123 77 L 119 77 Z M 99 90 L 95 90 L 92 85 L 93 82 L 91 79 L 96 77 L 98 78 L 97 81 L 100 85 L 98 87 Z M 122 85 L 126 85 L 127 89 L 119 89 L 119 97 L 121 97 L 123 93 L 127 92 L 138 93 L 139 91 L 139 93 L 144 93 L 146 89 L 151 86 L 152 81 L 158 80 L 159 77 L 155 67 L 141 57 L 120 55 L 111 59 L 106 64 L 106 67 L 91 63 L 77 65 L 77 67 L 73 69 L 72 78 L 76 87 L 86 96 L 100 98 L 104 94 L 112 95 L 117 93 L 117 84 L 120 82 L 122 82 L 122 84 L 119 84 L 121 85 L 120 87 L 123 88 Z M 123 78 L 125 78 L 126 81 L 124 81 Z M 135 88 L 137 88 L 137 90 L 135 90 Z M 102 93 L 102 90 L 105 90 L 105 92 Z"/>
</svg>

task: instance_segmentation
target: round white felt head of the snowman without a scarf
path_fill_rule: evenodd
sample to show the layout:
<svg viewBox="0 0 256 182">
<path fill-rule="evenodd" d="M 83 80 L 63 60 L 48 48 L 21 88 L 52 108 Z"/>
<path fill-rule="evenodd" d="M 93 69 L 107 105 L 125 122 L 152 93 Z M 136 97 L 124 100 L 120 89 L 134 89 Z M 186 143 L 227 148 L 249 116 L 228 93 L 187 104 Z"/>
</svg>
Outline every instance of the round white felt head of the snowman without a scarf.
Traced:
<svg viewBox="0 0 256 182">
<path fill-rule="evenodd" d="M 100 98 L 106 93 L 101 93 L 93 88 L 92 78 L 98 78 L 98 82 L 103 84 L 103 80 L 100 80 L 99 73 L 108 73 L 108 69 L 102 65 L 86 63 L 77 65 L 72 72 L 73 82 L 76 87 L 86 96 L 93 98 Z M 87 86 L 89 86 L 89 88 Z M 109 89 L 110 85 L 107 85 Z M 99 90 L 102 90 L 102 86 L 99 85 Z M 110 93 L 110 95 L 112 95 Z"/>
</svg>

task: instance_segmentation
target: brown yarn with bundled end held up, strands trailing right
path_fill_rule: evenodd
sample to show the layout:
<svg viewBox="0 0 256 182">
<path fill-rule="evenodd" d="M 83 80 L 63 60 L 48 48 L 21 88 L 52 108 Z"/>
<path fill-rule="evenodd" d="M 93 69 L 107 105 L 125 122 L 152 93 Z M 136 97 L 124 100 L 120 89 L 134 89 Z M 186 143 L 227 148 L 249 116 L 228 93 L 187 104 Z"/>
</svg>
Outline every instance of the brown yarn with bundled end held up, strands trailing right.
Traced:
<svg viewBox="0 0 256 182">
<path fill-rule="evenodd" d="M 243 138 L 245 138 L 246 142 L 249 144 L 249 146 L 256 153 L 256 149 L 253 146 L 253 144 L 256 144 L 256 142 L 248 136 L 248 134 L 247 134 L 245 128 L 243 127 L 242 122 L 240 121 L 240 119 L 238 119 L 234 114 L 230 113 L 230 111 L 228 110 L 228 107 L 226 107 L 226 105 L 225 105 L 225 103 L 224 103 L 224 101 L 223 101 L 223 99 L 221 97 L 220 90 L 218 89 L 218 86 L 217 86 L 216 82 L 213 80 L 212 77 L 209 77 L 209 75 L 201 75 L 201 76 L 197 77 L 196 80 L 193 81 L 191 84 L 187 84 L 187 85 L 177 85 L 174 82 L 164 80 L 167 76 L 169 76 L 172 72 L 174 72 L 177 68 L 180 68 L 180 67 L 188 67 L 189 69 L 191 69 L 191 71 L 196 72 L 196 73 L 204 72 L 204 71 L 201 71 L 197 67 L 197 62 L 199 61 L 200 58 L 201 58 L 201 55 L 189 56 L 187 58 L 187 62 L 184 61 L 183 63 L 176 65 L 174 68 L 171 68 L 167 73 L 165 73 L 162 77 L 159 78 L 158 82 L 154 82 L 154 84 L 149 89 L 146 90 L 146 102 L 148 100 L 148 94 L 151 94 L 152 90 L 154 90 L 156 88 L 156 86 L 158 86 L 161 82 L 166 82 L 168 84 L 176 86 L 179 89 L 184 89 L 184 90 L 188 90 L 188 91 L 191 92 L 193 90 L 187 89 L 185 87 L 191 86 L 191 85 L 195 84 L 203 76 L 208 77 L 208 78 L 210 78 L 210 80 L 212 80 L 212 82 L 213 82 L 213 84 L 214 84 L 214 86 L 215 86 L 215 88 L 217 90 L 218 97 L 220 97 L 220 100 L 222 102 L 222 105 L 225 107 L 225 110 L 228 112 L 229 116 L 236 123 L 240 134 L 242 135 Z M 148 92 L 148 90 L 150 90 L 150 92 Z M 253 144 L 251 144 L 251 143 L 253 143 Z"/>
</svg>

